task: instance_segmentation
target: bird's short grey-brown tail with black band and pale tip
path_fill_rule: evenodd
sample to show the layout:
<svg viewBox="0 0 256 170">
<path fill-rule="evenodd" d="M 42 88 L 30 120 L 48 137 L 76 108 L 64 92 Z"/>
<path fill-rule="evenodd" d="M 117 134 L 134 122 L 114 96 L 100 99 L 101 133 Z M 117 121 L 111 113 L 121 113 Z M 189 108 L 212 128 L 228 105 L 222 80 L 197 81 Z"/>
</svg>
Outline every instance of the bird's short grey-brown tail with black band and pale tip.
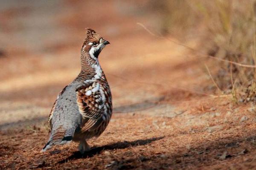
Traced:
<svg viewBox="0 0 256 170">
<path fill-rule="evenodd" d="M 46 150 L 50 149 L 53 145 L 67 144 L 67 143 L 70 143 L 72 140 L 73 140 L 73 135 L 60 136 L 58 133 L 54 133 L 50 136 L 49 141 L 47 142 L 47 144 L 45 144 L 41 152 L 45 152 Z"/>
</svg>

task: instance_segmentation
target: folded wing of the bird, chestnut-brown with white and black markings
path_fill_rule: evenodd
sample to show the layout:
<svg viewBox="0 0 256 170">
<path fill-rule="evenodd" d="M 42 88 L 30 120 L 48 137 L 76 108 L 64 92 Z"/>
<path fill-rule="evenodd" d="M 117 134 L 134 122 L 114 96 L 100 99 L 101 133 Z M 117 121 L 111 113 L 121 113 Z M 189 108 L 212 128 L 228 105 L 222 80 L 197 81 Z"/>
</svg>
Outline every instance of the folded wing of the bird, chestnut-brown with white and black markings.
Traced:
<svg viewBox="0 0 256 170">
<path fill-rule="evenodd" d="M 81 131 L 93 130 L 102 122 L 105 94 L 100 82 L 90 82 L 76 88 L 76 102 L 84 119 Z"/>
</svg>

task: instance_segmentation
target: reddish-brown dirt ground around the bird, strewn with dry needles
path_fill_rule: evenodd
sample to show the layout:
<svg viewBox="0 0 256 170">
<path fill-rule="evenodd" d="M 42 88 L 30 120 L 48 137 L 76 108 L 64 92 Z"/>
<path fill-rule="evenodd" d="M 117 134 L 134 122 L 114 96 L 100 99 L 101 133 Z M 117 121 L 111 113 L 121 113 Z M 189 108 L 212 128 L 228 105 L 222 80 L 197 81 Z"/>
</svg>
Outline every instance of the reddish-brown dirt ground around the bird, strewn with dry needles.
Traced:
<svg viewBox="0 0 256 170">
<path fill-rule="evenodd" d="M 213 94 L 208 60 L 139 26 L 158 29 L 144 1 L 17 2 L 0 7 L 0 169 L 256 169 L 253 105 Z M 76 143 L 41 153 L 52 104 L 79 73 L 86 27 L 111 42 L 99 56 L 111 122 L 84 155 Z"/>
</svg>

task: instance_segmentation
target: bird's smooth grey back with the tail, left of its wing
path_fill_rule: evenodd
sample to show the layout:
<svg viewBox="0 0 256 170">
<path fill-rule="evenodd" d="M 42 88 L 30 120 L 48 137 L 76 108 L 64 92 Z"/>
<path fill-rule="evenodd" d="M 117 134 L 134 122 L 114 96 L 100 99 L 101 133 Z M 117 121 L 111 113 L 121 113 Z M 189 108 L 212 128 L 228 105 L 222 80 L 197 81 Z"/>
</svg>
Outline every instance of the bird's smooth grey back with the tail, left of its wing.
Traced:
<svg viewBox="0 0 256 170">
<path fill-rule="evenodd" d="M 76 104 L 76 86 L 78 82 L 67 85 L 59 94 L 49 115 L 51 135 L 44 149 L 54 144 L 72 141 L 77 127 L 81 125 L 82 116 Z M 47 148 L 48 146 L 48 148 Z"/>
</svg>

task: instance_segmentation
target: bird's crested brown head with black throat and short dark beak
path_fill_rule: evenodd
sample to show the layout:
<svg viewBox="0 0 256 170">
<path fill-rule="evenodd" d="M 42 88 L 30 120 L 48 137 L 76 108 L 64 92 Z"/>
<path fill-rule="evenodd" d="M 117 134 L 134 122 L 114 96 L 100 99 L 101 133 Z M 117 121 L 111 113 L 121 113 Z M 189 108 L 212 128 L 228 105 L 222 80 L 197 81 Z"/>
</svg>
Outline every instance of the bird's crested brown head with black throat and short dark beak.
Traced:
<svg viewBox="0 0 256 170">
<path fill-rule="evenodd" d="M 110 43 L 107 40 L 104 40 L 93 29 L 86 28 L 86 30 L 87 32 L 82 46 L 82 52 L 89 53 L 91 58 L 97 59 L 102 49 Z"/>
</svg>

